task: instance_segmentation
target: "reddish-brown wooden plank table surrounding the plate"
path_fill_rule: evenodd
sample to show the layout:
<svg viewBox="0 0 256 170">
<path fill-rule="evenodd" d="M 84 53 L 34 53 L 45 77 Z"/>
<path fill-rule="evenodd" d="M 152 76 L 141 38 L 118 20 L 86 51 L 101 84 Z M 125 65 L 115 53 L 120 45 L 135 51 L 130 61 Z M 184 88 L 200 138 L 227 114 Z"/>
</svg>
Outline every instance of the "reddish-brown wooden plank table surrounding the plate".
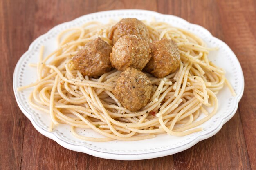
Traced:
<svg viewBox="0 0 256 170">
<path fill-rule="evenodd" d="M 111 9 L 147 9 L 177 15 L 226 42 L 240 61 L 245 92 L 238 111 L 210 139 L 175 155 L 115 161 L 67 150 L 41 135 L 16 104 L 12 77 L 29 44 L 53 26 Z M 0 169 L 256 170 L 255 0 L 0 0 Z"/>
</svg>

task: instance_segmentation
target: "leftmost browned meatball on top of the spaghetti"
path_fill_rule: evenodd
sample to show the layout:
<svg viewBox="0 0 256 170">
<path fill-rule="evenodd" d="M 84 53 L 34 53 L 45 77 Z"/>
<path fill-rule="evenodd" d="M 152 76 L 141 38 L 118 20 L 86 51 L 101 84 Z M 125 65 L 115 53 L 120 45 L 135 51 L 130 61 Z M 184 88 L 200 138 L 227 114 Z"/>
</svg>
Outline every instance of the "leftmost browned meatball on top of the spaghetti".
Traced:
<svg viewBox="0 0 256 170">
<path fill-rule="evenodd" d="M 99 77 L 112 69 L 110 53 L 112 47 L 101 38 L 96 38 L 83 46 L 73 58 L 74 66 L 83 76 Z"/>
</svg>

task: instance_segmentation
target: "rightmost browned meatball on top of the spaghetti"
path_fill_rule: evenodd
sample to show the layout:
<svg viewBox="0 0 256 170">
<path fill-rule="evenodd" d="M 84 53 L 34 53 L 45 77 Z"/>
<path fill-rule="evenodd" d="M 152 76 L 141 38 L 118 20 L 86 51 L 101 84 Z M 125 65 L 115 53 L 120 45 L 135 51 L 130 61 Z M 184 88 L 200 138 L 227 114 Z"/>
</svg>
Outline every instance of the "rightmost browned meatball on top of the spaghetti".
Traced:
<svg viewBox="0 0 256 170">
<path fill-rule="evenodd" d="M 173 40 L 162 38 L 150 44 L 151 59 L 145 70 L 155 77 L 162 78 L 177 70 L 180 66 L 180 52 Z"/>
</svg>

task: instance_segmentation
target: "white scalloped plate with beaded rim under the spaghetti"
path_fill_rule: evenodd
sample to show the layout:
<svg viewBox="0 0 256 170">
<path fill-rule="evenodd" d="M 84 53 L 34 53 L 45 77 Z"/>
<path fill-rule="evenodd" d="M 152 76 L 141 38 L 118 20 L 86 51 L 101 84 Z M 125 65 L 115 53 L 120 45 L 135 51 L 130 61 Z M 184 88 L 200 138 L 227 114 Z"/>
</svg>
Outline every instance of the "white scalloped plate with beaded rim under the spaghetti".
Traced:
<svg viewBox="0 0 256 170">
<path fill-rule="evenodd" d="M 210 60 L 217 66 L 224 68 L 226 77 L 234 87 L 236 96 L 232 97 L 229 89 L 225 86 L 217 95 L 219 107 L 216 115 L 209 121 L 202 124 L 203 131 L 196 132 L 184 137 L 175 137 L 170 135 L 157 135 L 153 139 L 142 141 L 109 141 L 109 142 L 90 142 L 76 139 L 70 133 L 70 127 L 61 124 L 54 128 L 53 132 L 48 132 L 50 116 L 46 113 L 35 110 L 29 106 L 27 99 L 32 88 L 18 92 L 16 89 L 19 86 L 24 86 L 34 82 L 37 79 L 35 68 L 29 67 L 29 63 L 36 63 L 40 51 L 40 46 L 45 46 L 44 56 L 51 53 L 57 47 L 56 36 L 64 29 L 74 26 L 80 26 L 89 21 L 108 22 L 112 18 L 119 20 L 120 18 L 138 18 L 140 20 L 151 20 L 155 17 L 157 21 L 167 22 L 173 26 L 195 33 L 207 43 L 209 47 L 219 47 L 218 51 L 211 51 L 209 54 Z M 61 146 L 84 152 L 96 157 L 119 160 L 138 160 L 162 157 L 166 155 L 181 152 L 195 145 L 199 141 L 207 139 L 215 135 L 220 128 L 236 113 L 238 102 L 243 95 L 244 78 L 241 66 L 236 58 L 236 55 L 231 51 L 229 46 L 211 35 L 209 31 L 202 26 L 190 24 L 182 18 L 172 15 L 162 15 L 160 13 L 144 10 L 116 10 L 103 11 L 84 15 L 70 22 L 65 22 L 48 31 L 46 34 L 38 37 L 29 46 L 26 53 L 22 55 L 18 61 L 13 74 L 13 88 L 17 103 L 22 112 L 29 118 L 33 126 L 40 133 L 53 139 Z M 98 136 L 92 130 L 82 131 L 84 135 Z"/>
</svg>

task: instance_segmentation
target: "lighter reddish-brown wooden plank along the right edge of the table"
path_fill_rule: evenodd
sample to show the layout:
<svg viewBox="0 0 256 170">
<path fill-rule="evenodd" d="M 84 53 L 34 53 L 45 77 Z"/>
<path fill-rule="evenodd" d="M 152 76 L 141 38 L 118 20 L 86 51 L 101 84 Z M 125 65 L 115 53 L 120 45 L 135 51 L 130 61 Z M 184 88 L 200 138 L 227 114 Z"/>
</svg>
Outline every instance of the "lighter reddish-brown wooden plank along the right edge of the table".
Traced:
<svg viewBox="0 0 256 170">
<path fill-rule="evenodd" d="M 233 49 L 245 76 L 245 91 L 238 110 L 249 154 L 251 168 L 256 169 L 256 2 L 218 1 L 226 43 Z M 225 18 L 225 20 L 224 20 Z"/>
</svg>

